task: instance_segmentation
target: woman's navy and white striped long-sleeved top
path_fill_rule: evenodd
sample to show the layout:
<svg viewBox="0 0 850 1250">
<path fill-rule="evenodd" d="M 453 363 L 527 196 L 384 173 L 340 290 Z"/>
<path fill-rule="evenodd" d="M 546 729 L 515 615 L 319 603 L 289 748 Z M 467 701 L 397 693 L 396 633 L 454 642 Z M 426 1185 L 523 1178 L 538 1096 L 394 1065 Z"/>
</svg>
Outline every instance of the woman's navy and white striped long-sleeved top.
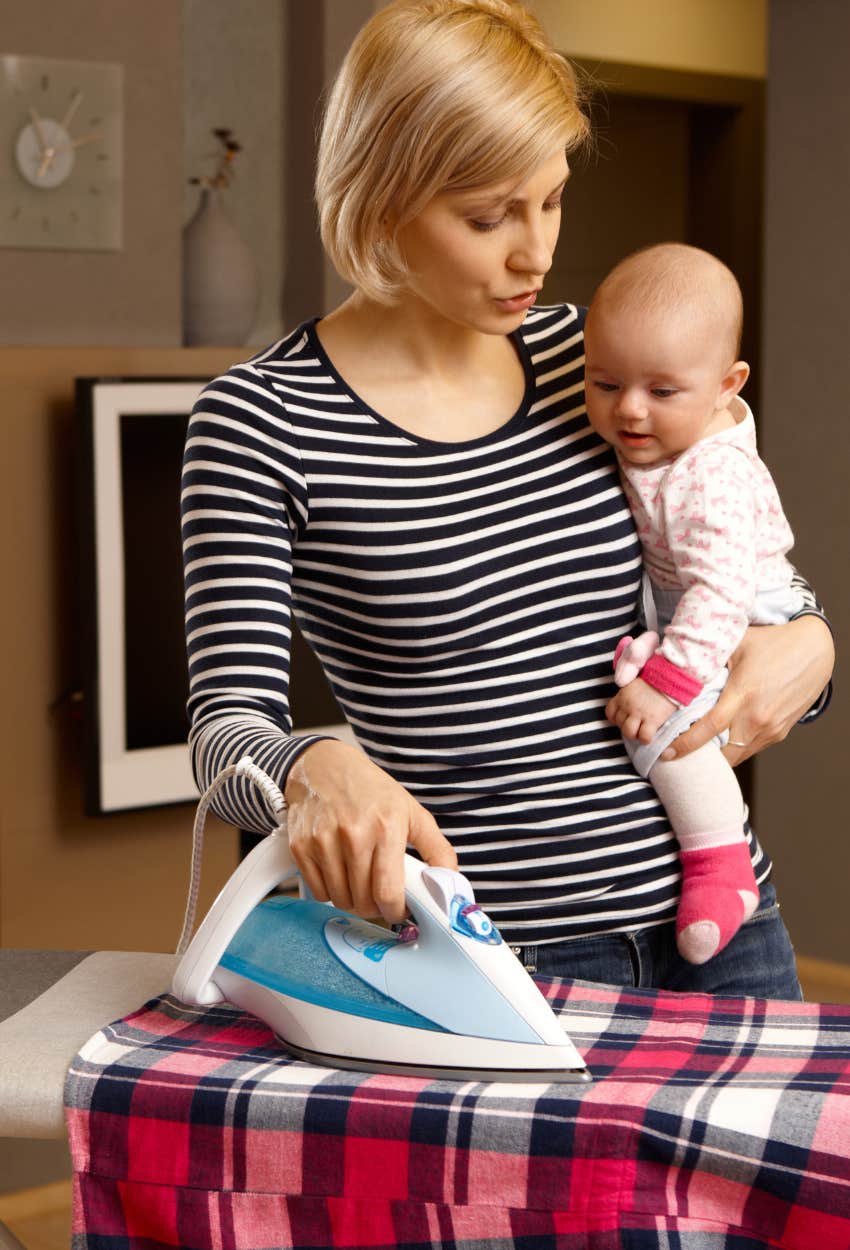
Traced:
<svg viewBox="0 0 850 1250">
<path fill-rule="evenodd" d="M 360 400 L 309 322 L 208 386 L 186 442 L 199 785 L 249 751 L 282 786 L 304 749 L 291 606 L 360 745 L 434 814 L 512 942 L 660 924 L 679 896 L 664 809 L 604 715 L 641 559 L 585 415 L 581 328 L 569 305 L 534 309 L 519 410 L 446 444 Z M 270 828 L 240 784 L 218 811 Z"/>
</svg>

